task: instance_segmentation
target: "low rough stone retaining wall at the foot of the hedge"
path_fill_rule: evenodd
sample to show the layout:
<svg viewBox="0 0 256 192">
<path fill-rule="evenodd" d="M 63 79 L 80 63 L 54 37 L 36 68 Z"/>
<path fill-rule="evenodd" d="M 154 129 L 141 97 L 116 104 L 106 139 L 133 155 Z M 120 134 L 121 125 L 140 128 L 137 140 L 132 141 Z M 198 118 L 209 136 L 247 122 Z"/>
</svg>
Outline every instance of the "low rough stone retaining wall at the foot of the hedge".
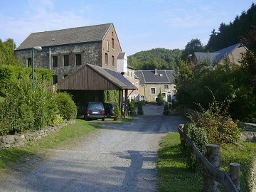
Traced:
<svg viewBox="0 0 256 192">
<path fill-rule="evenodd" d="M 25 146 L 27 142 L 36 142 L 38 139 L 45 137 L 51 132 L 58 132 L 60 129 L 65 127 L 68 124 L 74 123 L 75 120 L 69 120 L 58 126 L 48 126 L 44 129 L 28 132 L 25 134 L 15 134 L 15 135 L 6 135 L 0 137 L 0 149 Z"/>
</svg>

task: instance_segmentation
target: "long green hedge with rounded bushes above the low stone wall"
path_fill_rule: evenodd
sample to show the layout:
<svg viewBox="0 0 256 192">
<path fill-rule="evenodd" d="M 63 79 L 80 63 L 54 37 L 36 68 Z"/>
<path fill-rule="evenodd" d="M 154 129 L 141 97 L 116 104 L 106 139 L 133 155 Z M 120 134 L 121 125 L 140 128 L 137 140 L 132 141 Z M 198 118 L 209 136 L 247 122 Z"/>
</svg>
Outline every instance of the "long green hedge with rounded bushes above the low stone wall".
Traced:
<svg viewBox="0 0 256 192">
<path fill-rule="evenodd" d="M 1 76 L 2 75 L 2 76 Z M 1 67 L 0 135 L 39 130 L 63 119 L 75 119 L 77 109 L 70 95 L 48 90 L 53 71 L 36 70 L 33 91 L 31 69 Z"/>
</svg>

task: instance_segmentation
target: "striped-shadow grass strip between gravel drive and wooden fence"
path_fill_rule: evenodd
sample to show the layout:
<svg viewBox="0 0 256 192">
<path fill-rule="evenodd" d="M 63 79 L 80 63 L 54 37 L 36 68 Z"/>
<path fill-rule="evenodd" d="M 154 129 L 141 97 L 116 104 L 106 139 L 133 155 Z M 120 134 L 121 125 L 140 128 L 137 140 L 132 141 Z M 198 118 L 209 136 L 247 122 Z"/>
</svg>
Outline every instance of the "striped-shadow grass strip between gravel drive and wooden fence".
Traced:
<svg viewBox="0 0 256 192">
<path fill-rule="evenodd" d="M 184 163 L 178 133 L 170 133 L 164 138 L 159 150 L 158 191 L 188 192 L 202 191 L 202 176 L 189 171 Z"/>
</svg>

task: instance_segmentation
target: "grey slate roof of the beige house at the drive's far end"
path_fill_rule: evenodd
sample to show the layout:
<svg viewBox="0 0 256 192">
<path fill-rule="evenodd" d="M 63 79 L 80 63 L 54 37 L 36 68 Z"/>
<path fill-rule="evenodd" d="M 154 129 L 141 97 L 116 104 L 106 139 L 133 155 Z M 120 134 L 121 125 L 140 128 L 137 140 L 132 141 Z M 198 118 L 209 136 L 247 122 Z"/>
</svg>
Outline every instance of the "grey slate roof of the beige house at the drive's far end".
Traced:
<svg viewBox="0 0 256 192">
<path fill-rule="evenodd" d="M 135 75 L 139 78 L 140 84 L 162 84 L 173 83 L 175 78 L 175 70 L 136 70 Z"/>
</svg>

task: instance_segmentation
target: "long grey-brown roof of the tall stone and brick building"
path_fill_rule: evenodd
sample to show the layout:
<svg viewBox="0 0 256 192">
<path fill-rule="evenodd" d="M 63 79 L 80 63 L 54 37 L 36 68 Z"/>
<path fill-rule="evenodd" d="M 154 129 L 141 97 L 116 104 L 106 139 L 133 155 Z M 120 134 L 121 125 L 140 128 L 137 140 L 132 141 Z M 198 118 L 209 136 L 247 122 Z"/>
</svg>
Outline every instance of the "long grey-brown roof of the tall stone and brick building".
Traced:
<svg viewBox="0 0 256 192">
<path fill-rule="evenodd" d="M 31 33 L 16 50 L 102 41 L 113 23 Z"/>
</svg>

